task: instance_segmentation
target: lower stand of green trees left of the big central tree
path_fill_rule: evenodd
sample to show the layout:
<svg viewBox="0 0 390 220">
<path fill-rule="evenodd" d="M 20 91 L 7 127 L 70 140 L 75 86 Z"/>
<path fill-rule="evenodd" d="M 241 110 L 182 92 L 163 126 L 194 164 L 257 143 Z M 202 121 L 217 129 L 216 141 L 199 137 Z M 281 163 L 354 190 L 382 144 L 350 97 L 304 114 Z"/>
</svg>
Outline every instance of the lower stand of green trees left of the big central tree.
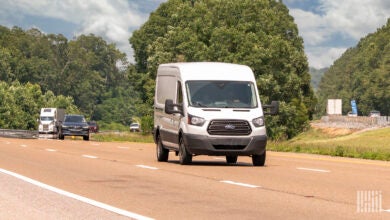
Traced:
<svg viewBox="0 0 390 220">
<path fill-rule="evenodd" d="M 132 69 L 125 58 L 114 44 L 95 35 L 68 40 L 38 29 L 0 26 L 4 92 L 0 96 L 0 126 L 36 129 L 34 121 L 42 107 L 66 108 L 68 113 L 82 113 L 103 123 L 130 124 L 139 116 L 135 105 L 140 99 L 129 80 Z M 50 101 L 48 96 L 67 101 Z"/>
</svg>

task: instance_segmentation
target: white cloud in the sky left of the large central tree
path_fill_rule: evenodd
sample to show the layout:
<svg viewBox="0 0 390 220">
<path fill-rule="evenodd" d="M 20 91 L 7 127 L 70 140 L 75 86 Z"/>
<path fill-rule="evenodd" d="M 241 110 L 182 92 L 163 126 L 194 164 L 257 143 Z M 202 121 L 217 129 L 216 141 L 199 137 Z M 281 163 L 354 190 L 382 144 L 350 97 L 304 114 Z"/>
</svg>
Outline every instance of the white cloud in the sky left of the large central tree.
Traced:
<svg viewBox="0 0 390 220">
<path fill-rule="evenodd" d="M 75 35 L 93 33 L 102 36 L 125 52 L 132 61 L 128 42 L 132 30 L 141 26 L 147 15 L 141 14 L 128 0 L 1 0 L 1 14 L 43 16 L 71 22 L 78 26 Z"/>
</svg>

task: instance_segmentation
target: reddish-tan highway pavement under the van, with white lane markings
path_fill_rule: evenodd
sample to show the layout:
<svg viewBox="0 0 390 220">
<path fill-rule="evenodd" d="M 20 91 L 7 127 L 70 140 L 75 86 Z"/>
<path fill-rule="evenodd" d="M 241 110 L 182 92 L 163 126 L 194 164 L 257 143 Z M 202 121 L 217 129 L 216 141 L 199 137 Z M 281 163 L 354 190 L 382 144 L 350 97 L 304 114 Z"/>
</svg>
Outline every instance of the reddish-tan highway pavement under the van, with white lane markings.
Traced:
<svg viewBox="0 0 390 220">
<path fill-rule="evenodd" d="M 390 163 L 267 152 L 173 153 L 155 145 L 0 138 L 0 219 L 390 219 Z"/>
</svg>

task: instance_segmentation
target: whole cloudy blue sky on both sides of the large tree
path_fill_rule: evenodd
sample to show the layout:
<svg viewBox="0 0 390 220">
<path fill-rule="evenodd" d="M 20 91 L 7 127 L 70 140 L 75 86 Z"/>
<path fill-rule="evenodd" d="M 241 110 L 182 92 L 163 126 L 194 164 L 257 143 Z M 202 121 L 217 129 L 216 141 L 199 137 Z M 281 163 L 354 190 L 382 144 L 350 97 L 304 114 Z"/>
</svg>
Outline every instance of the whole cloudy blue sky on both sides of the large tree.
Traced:
<svg viewBox="0 0 390 220">
<path fill-rule="evenodd" d="M 282 0 L 298 25 L 309 66 L 329 67 L 390 17 L 389 0 Z M 0 0 L 0 25 L 37 28 L 69 40 L 94 34 L 126 53 L 129 38 L 166 0 Z"/>
</svg>

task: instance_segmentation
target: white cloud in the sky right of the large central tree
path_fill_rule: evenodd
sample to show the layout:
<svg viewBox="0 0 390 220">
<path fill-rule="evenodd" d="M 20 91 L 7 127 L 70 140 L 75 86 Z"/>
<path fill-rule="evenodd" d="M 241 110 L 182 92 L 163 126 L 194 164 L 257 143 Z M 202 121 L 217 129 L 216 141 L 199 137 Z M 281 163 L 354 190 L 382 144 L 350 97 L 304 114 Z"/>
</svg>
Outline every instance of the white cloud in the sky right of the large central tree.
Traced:
<svg viewBox="0 0 390 220">
<path fill-rule="evenodd" d="M 288 3 L 312 0 L 287 0 Z M 333 64 L 351 45 L 340 47 L 345 40 L 357 43 L 360 38 L 386 24 L 390 16 L 388 0 L 318 0 L 315 13 L 290 8 L 298 24 L 310 66 L 322 68 Z M 353 45 L 352 45 L 353 46 Z"/>
</svg>

